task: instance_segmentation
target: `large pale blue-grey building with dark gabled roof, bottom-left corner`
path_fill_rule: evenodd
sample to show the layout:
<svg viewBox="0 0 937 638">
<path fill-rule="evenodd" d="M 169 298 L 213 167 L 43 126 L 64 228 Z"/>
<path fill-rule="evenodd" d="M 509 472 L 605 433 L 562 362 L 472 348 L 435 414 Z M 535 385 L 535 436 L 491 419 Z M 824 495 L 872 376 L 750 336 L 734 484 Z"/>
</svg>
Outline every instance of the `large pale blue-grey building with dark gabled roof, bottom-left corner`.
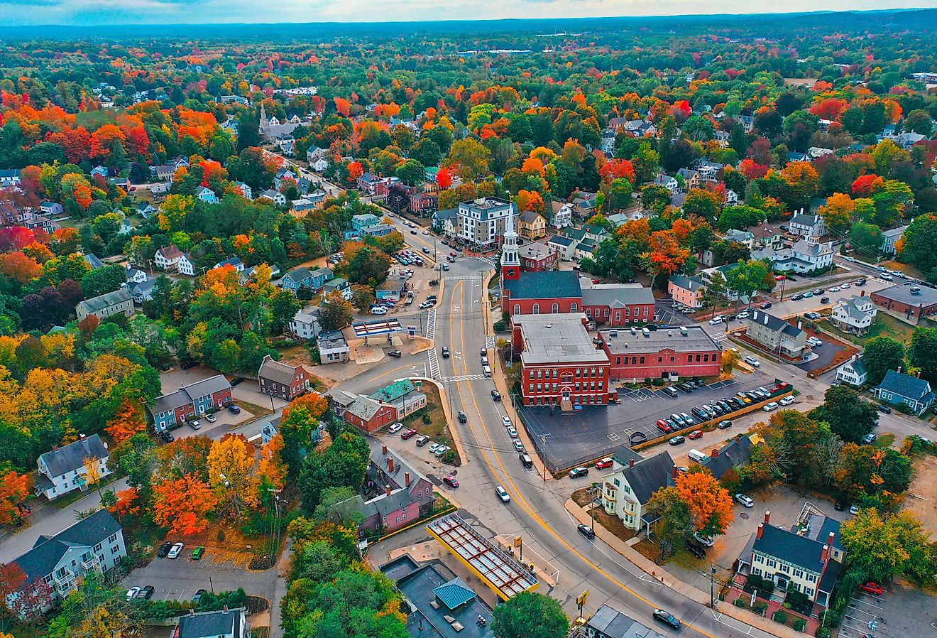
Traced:
<svg viewBox="0 0 937 638">
<path fill-rule="evenodd" d="M 10 561 L 26 576 L 19 591 L 7 598 L 18 599 L 30 587 L 47 587 L 53 600 L 64 600 L 87 573 L 112 570 L 126 556 L 124 530 L 107 509 L 71 524 L 58 534 L 40 536 L 33 548 Z M 16 605 L 14 605 L 16 606 Z M 48 606 L 22 609 L 22 615 L 44 612 Z"/>
</svg>

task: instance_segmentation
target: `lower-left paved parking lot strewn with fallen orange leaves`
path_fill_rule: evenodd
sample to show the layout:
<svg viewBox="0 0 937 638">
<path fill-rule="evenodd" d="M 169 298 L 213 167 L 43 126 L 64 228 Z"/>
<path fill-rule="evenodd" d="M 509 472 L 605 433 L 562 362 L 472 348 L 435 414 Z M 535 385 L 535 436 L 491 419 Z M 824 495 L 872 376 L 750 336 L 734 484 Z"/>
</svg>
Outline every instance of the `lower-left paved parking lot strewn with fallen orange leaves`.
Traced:
<svg viewBox="0 0 937 638">
<path fill-rule="evenodd" d="M 244 587 L 247 594 L 274 600 L 277 570 L 247 570 L 244 562 L 232 561 L 230 553 L 206 548 L 201 560 L 192 560 L 194 546 L 186 545 L 178 558 L 154 558 L 149 565 L 131 571 L 122 585 L 156 587 L 154 600 L 191 600 L 199 589 L 233 591 Z M 237 554 L 238 559 L 245 558 Z"/>
</svg>

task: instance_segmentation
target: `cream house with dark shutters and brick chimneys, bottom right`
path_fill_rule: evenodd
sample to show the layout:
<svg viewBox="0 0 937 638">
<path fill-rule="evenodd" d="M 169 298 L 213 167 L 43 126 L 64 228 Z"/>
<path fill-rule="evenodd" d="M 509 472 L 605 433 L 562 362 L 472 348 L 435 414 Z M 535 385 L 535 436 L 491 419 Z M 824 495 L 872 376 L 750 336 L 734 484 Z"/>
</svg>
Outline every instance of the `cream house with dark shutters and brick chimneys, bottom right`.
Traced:
<svg viewBox="0 0 937 638">
<path fill-rule="evenodd" d="M 845 551 L 837 538 L 840 522 L 811 515 L 791 529 L 771 524 L 771 512 L 738 556 L 738 570 L 793 589 L 826 607 L 842 569 Z M 806 531 L 805 531 L 806 530 Z"/>
</svg>

